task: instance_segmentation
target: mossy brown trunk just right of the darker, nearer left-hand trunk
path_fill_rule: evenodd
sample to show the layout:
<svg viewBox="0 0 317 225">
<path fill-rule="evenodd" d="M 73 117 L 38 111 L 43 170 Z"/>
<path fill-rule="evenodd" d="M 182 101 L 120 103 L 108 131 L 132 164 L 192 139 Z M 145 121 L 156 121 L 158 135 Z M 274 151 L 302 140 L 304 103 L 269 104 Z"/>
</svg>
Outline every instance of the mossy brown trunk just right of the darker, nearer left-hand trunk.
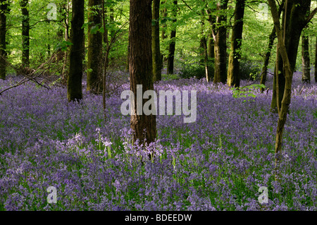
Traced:
<svg viewBox="0 0 317 225">
<path fill-rule="evenodd" d="M 101 23 L 102 0 L 89 0 L 88 12 L 88 61 L 87 61 L 87 90 L 98 93 L 102 91 L 102 33 L 92 33 L 94 26 Z M 98 8 L 97 8 L 98 7 Z"/>
</svg>

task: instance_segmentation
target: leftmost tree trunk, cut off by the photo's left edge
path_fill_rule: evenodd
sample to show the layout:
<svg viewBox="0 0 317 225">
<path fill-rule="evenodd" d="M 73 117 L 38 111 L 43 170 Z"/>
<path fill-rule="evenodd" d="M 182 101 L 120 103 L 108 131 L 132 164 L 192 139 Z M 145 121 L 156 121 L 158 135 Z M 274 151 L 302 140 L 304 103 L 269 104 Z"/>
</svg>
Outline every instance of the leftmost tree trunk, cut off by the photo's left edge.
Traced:
<svg viewBox="0 0 317 225">
<path fill-rule="evenodd" d="M 6 79 L 6 13 L 8 13 L 8 4 L 6 0 L 1 0 L 0 4 L 0 78 Z"/>
</svg>

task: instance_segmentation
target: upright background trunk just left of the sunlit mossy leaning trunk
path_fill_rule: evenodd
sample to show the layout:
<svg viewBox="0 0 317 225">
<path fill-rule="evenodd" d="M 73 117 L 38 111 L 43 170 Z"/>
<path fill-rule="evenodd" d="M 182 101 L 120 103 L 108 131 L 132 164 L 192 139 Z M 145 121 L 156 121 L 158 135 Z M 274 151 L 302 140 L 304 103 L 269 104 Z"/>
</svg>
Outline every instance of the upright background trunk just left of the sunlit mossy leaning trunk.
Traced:
<svg viewBox="0 0 317 225">
<path fill-rule="evenodd" d="M 223 23 L 227 22 L 224 12 L 228 7 L 228 0 L 217 3 L 219 15 L 216 18 L 216 34 L 213 34 L 215 42 L 215 75 L 213 83 L 225 83 L 227 80 L 227 28 Z M 215 33 L 215 31 L 214 31 Z"/>
</svg>

